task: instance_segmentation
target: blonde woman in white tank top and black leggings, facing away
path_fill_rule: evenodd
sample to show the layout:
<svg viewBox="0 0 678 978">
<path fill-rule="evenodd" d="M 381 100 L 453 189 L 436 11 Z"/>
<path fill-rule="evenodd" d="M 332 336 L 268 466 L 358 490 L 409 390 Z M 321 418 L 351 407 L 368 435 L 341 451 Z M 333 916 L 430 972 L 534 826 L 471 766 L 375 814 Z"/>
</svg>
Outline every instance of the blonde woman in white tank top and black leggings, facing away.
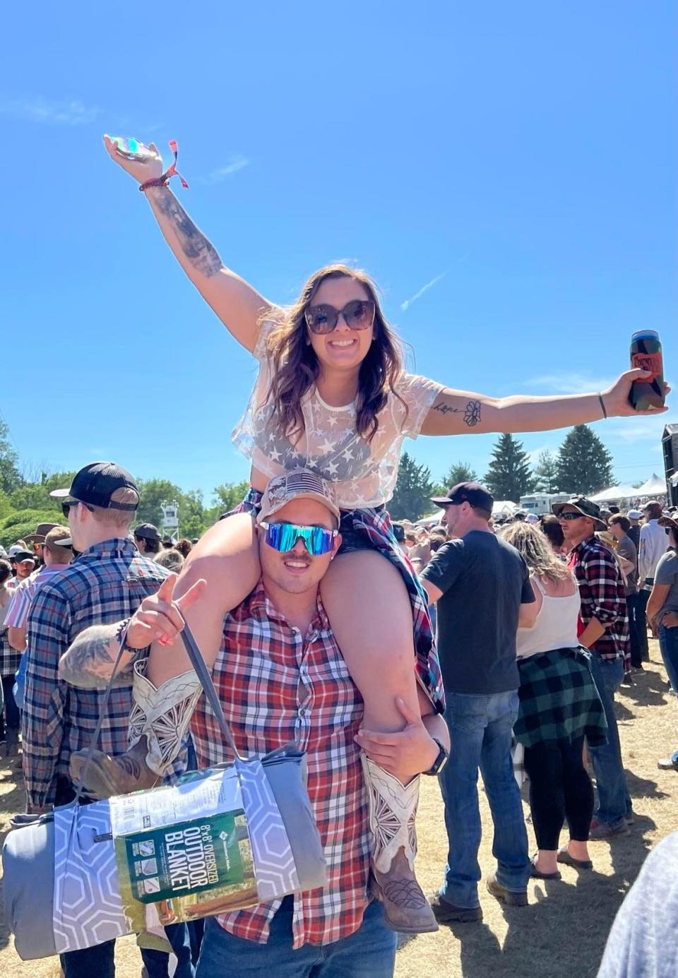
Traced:
<svg viewBox="0 0 678 978">
<path fill-rule="evenodd" d="M 520 713 L 515 727 L 525 748 L 539 848 L 532 875 L 560 879 L 559 863 L 592 866 L 587 840 L 593 787 L 583 746 L 585 737 L 594 745 L 605 742 L 605 714 L 589 653 L 577 641 L 579 593 L 572 574 L 544 534 L 529 523 L 514 523 L 503 536 L 525 558 L 537 604 L 532 628 L 518 630 Z M 569 842 L 559 850 L 565 819 Z"/>
</svg>

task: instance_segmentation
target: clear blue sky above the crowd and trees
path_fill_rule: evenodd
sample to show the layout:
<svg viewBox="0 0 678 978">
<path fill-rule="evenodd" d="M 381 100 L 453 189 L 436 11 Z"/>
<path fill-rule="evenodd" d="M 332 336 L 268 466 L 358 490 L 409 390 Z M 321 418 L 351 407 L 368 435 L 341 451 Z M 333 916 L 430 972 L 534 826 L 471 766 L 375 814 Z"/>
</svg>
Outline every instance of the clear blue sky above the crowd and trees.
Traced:
<svg viewBox="0 0 678 978">
<path fill-rule="evenodd" d="M 24 463 L 111 458 L 185 489 L 246 478 L 253 361 L 184 278 L 104 132 L 179 142 L 174 190 L 268 297 L 355 260 L 416 369 L 493 395 L 598 389 L 675 330 L 669 0 L 4 14 L 0 412 Z M 32 396 L 26 389 L 30 385 Z M 662 419 L 596 424 L 620 481 Z M 565 431 L 525 435 L 537 453 Z M 494 437 L 421 438 L 438 477 Z"/>
</svg>

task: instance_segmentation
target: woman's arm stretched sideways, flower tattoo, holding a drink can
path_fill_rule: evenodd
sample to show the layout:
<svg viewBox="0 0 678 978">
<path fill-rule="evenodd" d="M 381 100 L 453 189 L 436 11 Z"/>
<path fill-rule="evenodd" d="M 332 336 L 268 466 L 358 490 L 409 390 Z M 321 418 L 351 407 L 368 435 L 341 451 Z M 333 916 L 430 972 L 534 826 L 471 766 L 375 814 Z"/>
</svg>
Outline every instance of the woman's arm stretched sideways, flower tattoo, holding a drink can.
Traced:
<svg viewBox="0 0 678 978">
<path fill-rule="evenodd" d="M 636 378 L 648 371 L 629 370 L 607 390 L 594 394 L 553 397 L 487 397 L 445 387 L 435 398 L 422 425 L 422 434 L 484 434 L 488 431 L 550 431 L 603 418 L 658 415 L 667 408 L 635 411 L 628 396 Z M 669 387 L 665 386 L 666 393 Z"/>
</svg>

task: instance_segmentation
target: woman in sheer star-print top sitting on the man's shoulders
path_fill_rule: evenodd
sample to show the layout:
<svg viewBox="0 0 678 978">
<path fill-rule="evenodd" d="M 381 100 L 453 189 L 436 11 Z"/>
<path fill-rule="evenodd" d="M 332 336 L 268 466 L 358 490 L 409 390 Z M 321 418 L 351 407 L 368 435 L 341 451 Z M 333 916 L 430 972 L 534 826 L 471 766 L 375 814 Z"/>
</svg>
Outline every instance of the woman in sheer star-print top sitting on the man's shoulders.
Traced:
<svg viewBox="0 0 678 978">
<path fill-rule="evenodd" d="M 226 558 L 232 573 L 217 600 L 224 611 L 236 607 L 259 576 L 252 517 L 266 483 L 286 470 L 311 469 L 334 483 L 341 510 L 343 544 L 323 580 L 323 600 L 365 700 L 371 729 L 400 730 L 402 716 L 395 701 L 402 698 L 415 710 L 418 689 L 430 689 L 434 708 L 442 712 L 444 693 L 427 598 L 397 546 L 385 509 L 404 438 L 547 430 L 633 415 L 628 395 L 634 378 L 643 372 L 627 371 L 600 393 L 505 398 L 455 390 L 409 374 L 377 288 L 365 273 L 344 264 L 325 266 L 308 279 L 292 307 L 283 309 L 224 264 L 169 190 L 174 167 L 163 172 L 153 144 L 143 159 L 130 158 L 124 147 L 118 152 L 117 143 L 108 137 L 105 144 L 112 159 L 141 185 L 190 280 L 259 365 L 247 411 L 234 431 L 235 444 L 251 462 L 249 495 L 240 511 L 203 536 L 188 558 L 180 590 L 207 576 L 203 564 L 208 567 L 214 558 Z M 218 641 L 215 628 L 203 644 L 208 665 Z M 171 655 L 152 653 L 147 680 L 158 690 L 155 707 L 165 699 L 175 702 L 176 690 L 190 683 L 189 671 L 190 662 L 179 648 Z M 197 677 L 194 684 L 197 692 Z M 193 693 L 187 692 L 186 711 L 194 701 Z M 161 717 L 158 723 L 164 726 Z M 158 778 L 158 760 L 147 747 L 149 736 L 153 740 L 146 731 L 132 746 L 132 765 L 112 763 L 106 777 L 112 790 L 144 787 Z M 168 752 L 163 763 L 170 757 Z M 130 777 L 132 768 L 138 777 Z M 369 789 L 379 793 L 372 774 L 368 765 Z M 402 772 L 396 772 L 396 778 L 399 775 Z M 394 819 L 398 811 L 409 811 L 409 792 L 409 785 L 401 784 L 400 803 L 394 802 L 391 810 Z M 390 886 L 391 868 L 379 839 L 374 856 L 375 864 L 383 867 L 378 872 L 382 899 L 388 905 L 398 903 L 393 914 L 400 919 L 408 907 L 413 929 L 434 929 L 432 911 L 414 874 L 405 887 L 394 868 L 398 885 Z"/>
</svg>

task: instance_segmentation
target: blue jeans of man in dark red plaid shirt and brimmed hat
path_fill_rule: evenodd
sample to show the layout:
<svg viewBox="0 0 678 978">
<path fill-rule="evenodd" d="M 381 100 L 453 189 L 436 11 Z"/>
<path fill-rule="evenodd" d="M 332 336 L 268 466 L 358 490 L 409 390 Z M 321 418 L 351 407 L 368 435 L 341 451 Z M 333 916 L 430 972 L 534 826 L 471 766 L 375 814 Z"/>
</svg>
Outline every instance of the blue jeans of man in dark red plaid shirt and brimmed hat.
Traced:
<svg viewBox="0 0 678 978">
<path fill-rule="evenodd" d="M 621 761 L 619 732 L 614 713 L 614 693 L 624 678 L 622 659 L 602 659 L 595 652 L 591 654 L 591 672 L 603 702 L 605 718 L 608 721 L 608 742 L 600 747 L 589 746 L 589 754 L 596 773 L 598 790 L 598 822 L 614 824 L 631 812 L 631 797 L 626 785 L 626 774 Z"/>
</svg>

